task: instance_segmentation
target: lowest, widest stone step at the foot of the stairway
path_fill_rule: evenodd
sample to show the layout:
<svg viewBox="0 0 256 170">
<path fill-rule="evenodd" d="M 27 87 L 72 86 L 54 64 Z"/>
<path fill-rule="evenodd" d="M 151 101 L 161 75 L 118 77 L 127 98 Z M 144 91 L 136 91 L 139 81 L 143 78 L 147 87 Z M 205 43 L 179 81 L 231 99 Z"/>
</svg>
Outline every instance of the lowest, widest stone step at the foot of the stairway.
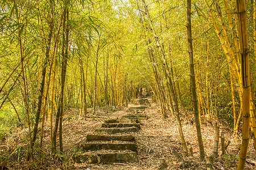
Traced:
<svg viewBox="0 0 256 170">
<path fill-rule="evenodd" d="M 115 162 L 138 162 L 137 153 L 133 151 L 112 152 L 79 152 L 73 155 L 76 163 L 108 164 Z"/>
</svg>

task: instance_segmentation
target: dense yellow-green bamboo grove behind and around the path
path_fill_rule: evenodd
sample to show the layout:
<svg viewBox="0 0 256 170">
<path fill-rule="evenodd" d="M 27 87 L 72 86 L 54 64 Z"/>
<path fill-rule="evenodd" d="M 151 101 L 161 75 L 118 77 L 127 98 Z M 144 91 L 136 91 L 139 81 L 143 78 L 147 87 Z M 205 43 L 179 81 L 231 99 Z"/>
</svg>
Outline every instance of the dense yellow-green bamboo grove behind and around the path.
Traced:
<svg viewBox="0 0 256 170">
<path fill-rule="evenodd" d="M 234 134 L 242 118 L 236 10 L 226 0 L 192 2 L 191 10 L 200 122 L 226 120 Z M 187 2 L 6 0 L 0 11 L 1 138 L 22 125 L 32 148 L 39 122 L 49 123 L 56 150 L 63 110 L 79 108 L 86 117 L 87 108 L 123 108 L 142 88 L 163 118 L 179 116 L 179 106 L 193 110 Z M 246 1 L 246 15 L 255 131 L 254 1 Z"/>
</svg>

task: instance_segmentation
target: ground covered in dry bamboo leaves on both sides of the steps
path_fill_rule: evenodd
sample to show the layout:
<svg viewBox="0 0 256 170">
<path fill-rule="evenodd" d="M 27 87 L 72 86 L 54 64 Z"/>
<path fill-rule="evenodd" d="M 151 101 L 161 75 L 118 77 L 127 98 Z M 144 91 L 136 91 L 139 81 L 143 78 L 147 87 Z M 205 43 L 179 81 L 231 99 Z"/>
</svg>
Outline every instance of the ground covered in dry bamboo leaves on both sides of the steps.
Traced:
<svg viewBox="0 0 256 170">
<path fill-rule="evenodd" d="M 133 105 L 129 105 L 132 107 Z M 127 109 L 127 108 L 126 108 Z M 159 113 L 158 107 L 153 103 L 147 108 L 144 114 L 149 117 L 148 120 L 142 120 L 142 128 L 139 133 L 134 133 L 135 143 L 138 145 L 137 163 L 113 163 L 88 165 L 85 163 L 77 164 L 72 160 L 77 146 L 86 142 L 87 134 L 94 134 L 94 130 L 101 127 L 104 120 L 109 118 L 121 117 L 124 110 L 112 111 L 110 108 L 97 109 L 97 115 L 88 118 L 79 116 L 78 109 L 70 109 L 65 112 L 63 122 L 63 145 L 64 153 L 61 162 L 60 156 L 53 158 L 50 149 L 50 128 L 49 124 L 44 128 L 43 148 L 39 149 L 39 145 L 35 145 L 34 159 L 26 161 L 26 152 L 29 144 L 28 129 L 15 129 L 15 131 L 0 145 L 0 169 L 159 169 L 162 160 L 166 160 L 166 169 L 205 169 L 205 162 L 200 162 L 199 147 L 197 144 L 197 135 L 193 114 L 189 112 L 186 119 L 181 111 L 183 133 L 187 146 L 193 148 L 193 158 L 183 156 L 179 131 L 177 129 L 175 118 L 169 116 L 163 120 Z M 226 122 L 220 123 L 220 131 L 225 133 L 225 140 L 230 141 L 230 145 L 226 150 L 226 155 L 219 156 L 214 159 L 213 169 L 237 169 L 238 155 L 234 154 L 238 141 L 233 138 L 232 128 L 226 128 Z M 40 130 L 40 129 L 39 129 Z M 204 148 L 207 155 L 211 155 L 214 143 L 214 126 L 211 124 L 202 124 L 201 131 L 203 135 Z M 39 141 L 37 141 L 40 143 Z M 250 141 L 245 169 L 256 169 L 256 154 Z M 59 149 L 59 148 L 57 148 Z M 176 150 L 185 161 L 188 162 L 186 167 L 174 154 Z M 219 149 L 220 150 L 220 149 Z M 219 155 L 221 151 L 219 151 Z"/>
</svg>

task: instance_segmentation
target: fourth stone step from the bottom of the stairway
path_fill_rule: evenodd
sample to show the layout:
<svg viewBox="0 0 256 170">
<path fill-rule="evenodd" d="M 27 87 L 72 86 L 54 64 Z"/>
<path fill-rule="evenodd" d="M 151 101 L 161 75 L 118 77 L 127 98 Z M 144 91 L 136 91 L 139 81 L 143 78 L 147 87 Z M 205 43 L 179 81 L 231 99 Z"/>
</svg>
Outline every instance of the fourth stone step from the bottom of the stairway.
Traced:
<svg viewBox="0 0 256 170">
<path fill-rule="evenodd" d="M 98 133 L 107 133 L 107 134 L 116 134 L 116 133 L 133 133 L 138 132 L 139 128 L 131 127 L 131 128 L 101 128 L 95 130 Z"/>
</svg>

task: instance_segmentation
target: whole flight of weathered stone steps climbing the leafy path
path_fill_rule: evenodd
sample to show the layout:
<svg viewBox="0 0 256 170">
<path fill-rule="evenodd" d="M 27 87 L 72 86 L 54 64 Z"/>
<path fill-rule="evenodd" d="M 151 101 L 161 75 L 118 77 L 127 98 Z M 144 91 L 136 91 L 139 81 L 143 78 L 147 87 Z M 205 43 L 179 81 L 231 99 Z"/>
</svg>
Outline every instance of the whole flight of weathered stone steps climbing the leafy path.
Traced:
<svg viewBox="0 0 256 170">
<path fill-rule="evenodd" d="M 73 160 L 76 163 L 109 164 L 138 162 L 135 133 L 141 129 L 140 121 L 147 119 L 144 110 L 150 106 L 148 99 L 139 98 L 138 107 L 126 109 L 121 118 L 105 120 L 96 134 L 86 136 Z"/>
</svg>

